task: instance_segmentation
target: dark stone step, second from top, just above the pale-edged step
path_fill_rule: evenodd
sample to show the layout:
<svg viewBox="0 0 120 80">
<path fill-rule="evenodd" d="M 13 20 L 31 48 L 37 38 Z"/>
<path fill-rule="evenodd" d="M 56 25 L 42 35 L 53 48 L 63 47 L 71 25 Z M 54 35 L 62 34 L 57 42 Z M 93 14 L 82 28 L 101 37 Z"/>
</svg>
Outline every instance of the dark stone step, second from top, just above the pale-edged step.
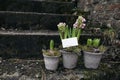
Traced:
<svg viewBox="0 0 120 80">
<path fill-rule="evenodd" d="M 71 14 L 0 11 L 0 28 L 10 30 L 57 30 L 59 22 L 72 26 L 77 19 Z"/>
</svg>

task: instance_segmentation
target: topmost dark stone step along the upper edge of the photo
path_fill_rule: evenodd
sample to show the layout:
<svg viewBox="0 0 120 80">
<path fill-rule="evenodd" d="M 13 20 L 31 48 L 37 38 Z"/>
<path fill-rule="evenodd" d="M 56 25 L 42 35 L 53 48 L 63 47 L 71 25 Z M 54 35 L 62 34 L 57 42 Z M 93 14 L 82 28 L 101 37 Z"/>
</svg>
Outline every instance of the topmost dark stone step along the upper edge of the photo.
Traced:
<svg viewBox="0 0 120 80">
<path fill-rule="evenodd" d="M 61 2 L 49 0 L 0 0 L 1 11 L 21 11 L 70 14 L 75 8 L 74 2 Z"/>
</svg>

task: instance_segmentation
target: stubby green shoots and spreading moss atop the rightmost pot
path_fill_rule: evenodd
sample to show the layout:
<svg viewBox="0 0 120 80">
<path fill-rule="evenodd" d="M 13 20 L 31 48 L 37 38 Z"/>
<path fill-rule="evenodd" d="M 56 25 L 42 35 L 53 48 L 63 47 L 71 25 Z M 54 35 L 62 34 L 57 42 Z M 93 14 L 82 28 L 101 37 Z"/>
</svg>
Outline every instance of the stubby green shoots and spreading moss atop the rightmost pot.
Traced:
<svg viewBox="0 0 120 80">
<path fill-rule="evenodd" d="M 87 45 L 83 46 L 82 49 L 88 52 L 99 53 L 99 52 L 105 52 L 107 48 L 103 45 L 100 45 L 100 39 L 95 38 L 95 39 L 87 39 Z"/>
</svg>

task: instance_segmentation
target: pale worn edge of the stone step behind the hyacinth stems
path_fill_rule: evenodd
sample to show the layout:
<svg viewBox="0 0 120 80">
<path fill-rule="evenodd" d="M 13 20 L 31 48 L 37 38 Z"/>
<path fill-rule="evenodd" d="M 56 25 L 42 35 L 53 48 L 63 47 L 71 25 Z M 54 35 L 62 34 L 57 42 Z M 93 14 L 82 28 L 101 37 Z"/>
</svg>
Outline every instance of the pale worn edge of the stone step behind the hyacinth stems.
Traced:
<svg viewBox="0 0 120 80">
<path fill-rule="evenodd" d="M 50 31 L 50 30 L 0 30 L 0 35 L 11 35 L 11 36 L 59 36 L 58 31 Z M 86 32 L 82 33 L 81 36 L 84 37 L 101 37 L 102 34 L 93 34 L 86 30 Z"/>
</svg>

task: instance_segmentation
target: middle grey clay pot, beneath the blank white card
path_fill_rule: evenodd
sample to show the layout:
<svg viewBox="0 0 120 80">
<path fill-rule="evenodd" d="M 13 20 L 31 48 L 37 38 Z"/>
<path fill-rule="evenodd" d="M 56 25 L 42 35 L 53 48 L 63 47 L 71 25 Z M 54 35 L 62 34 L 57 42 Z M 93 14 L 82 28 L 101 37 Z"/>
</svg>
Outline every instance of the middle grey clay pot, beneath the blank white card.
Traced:
<svg viewBox="0 0 120 80">
<path fill-rule="evenodd" d="M 68 69 L 75 68 L 78 61 L 78 55 L 73 52 L 61 50 L 63 55 L 63 66 Z"/>
</svg>

